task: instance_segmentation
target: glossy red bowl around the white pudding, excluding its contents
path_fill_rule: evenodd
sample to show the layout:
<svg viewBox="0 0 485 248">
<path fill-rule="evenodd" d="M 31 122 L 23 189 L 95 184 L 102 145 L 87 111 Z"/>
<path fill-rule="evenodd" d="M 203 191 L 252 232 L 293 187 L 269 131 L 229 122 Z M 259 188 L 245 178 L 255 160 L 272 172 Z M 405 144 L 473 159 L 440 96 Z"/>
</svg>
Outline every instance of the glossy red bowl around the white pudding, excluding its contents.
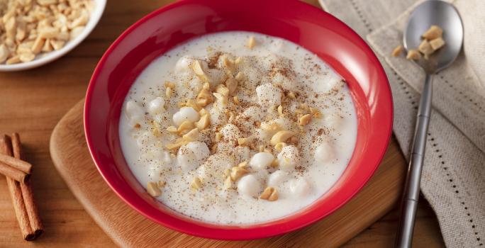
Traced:
<svg viewBox="0 0 485 248">
<path fill-rule="evenodd" d="M 152 60 L 191 38 L 227 30 L 285 38 L 316 53 L 347 81 L 357 110 L 355 151 L 330 191 L 292 215 L 255 225 L 215 225 L 167 208 L 135 179 L 118 137 L 123 100 Z M 389 82 L 379 60 L 364 40 L 329 13 L 300 1 L 184 0 L 145 16 L 108 48 L 89 83 L 84 129 L 91 156 L 108 185 L 147 218 L 200 237 L 256 239 L 309 225 L 349 201 L 386 152 L 392 110 Z"/>
</svg>

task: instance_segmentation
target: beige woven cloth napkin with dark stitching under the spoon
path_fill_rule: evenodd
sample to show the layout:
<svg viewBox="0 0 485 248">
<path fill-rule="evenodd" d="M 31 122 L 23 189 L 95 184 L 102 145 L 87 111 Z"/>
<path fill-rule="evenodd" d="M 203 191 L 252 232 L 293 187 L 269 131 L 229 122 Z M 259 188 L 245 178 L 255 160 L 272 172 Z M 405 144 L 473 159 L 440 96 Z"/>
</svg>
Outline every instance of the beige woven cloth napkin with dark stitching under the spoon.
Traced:
<svg viewBox="0 0 485 248">
<path fill-rule="evenodd" d="M 419 1 L 421 2 L 421 1 Z M 394 133 L 408 157 L 424 73 L 391 57 L 415 0 L 320 0 L 367 38 L 394 97 Z M 485 1 L 456 0 L 464 52 L 434 78 L 433 113 L 421 191 L 440 222 L 447 247 L 485 247 Z M 445 30 L 446 32 L 446 30 Z"/>
</svg>

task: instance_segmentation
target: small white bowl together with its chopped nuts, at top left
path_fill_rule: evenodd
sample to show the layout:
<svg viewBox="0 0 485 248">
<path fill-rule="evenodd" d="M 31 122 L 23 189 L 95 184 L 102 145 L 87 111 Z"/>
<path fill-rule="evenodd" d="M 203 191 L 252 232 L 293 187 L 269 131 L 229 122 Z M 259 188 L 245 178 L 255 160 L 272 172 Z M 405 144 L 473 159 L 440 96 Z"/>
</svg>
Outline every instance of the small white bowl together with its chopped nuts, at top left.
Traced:
<svg viewBox="0 0 485 248">
<path fill-rule="evenodd" d="M 65 55 L 99 22 L 106 0 L 0 0 L 0 72 Z"/>
</svg>

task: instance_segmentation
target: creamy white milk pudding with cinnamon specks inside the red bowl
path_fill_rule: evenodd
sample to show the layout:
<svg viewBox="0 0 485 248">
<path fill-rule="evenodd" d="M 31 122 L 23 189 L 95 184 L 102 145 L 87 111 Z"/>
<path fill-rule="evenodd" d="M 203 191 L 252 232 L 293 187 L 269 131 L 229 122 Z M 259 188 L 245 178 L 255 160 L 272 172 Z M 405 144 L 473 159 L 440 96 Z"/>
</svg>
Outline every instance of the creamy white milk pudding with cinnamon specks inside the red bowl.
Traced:
<svg viewBox="0 0 485 248">
<path fill-rule="evenodd" d="M 252 49 L 250 37 L 255 38 Z M 227 97 L 229 106 L 213 97 L 216 103 L 205 107 L 211 125 L 200 131 L 197 142 L 168 150 L 179 137 L 166 129 L 202 115 L 190 107 L 180 111 L 177 105 L 196 99 L 204 88 L 206 78 L 194 73 L 194 61 L 201 61 L 211 93 L 224 83 L 226 76 L 217 71 L 223 67 L 221 57 L 215 69 L 205 60 L 217 59 L 217 52 L 237 61 L 238 88 Z M 233 73 L 230 77 L 237 76 Z M 174 88 L 170 96 L 167 87 Z M 298 125 L 308 107 L 318 113 L 308 125 Z M 298 133 L 282 152 L 269 144 L 275 131 L 263 128 L 274 123 Z M 149 182 L 163 182 L 158 184 L 159 201 L 191 218 L 244 225 L 290 215 L 327 192 L 352 156 L 357 119 L 347 85 L 316 55 L 281 38 L 237 31 L 201 36 L 154 60 L 126 96 L 119 134 L 126 162 L 140 184 L 147 188 Z M 247 136 L 249 145 L 238 145 L 238 138 Z M 263 148 L 266 152 L 258 153 Z M 279 165 L 272 164 L 274 159 Z M 227 179 L 225 170 L 240 162 L 248 162 L 248 172 L 235 181 Z M 196 177 L 200 188 L 192 186 Z M 268 186 L 276 189 L 276 201 L 260 198 Z"/>
</svg>

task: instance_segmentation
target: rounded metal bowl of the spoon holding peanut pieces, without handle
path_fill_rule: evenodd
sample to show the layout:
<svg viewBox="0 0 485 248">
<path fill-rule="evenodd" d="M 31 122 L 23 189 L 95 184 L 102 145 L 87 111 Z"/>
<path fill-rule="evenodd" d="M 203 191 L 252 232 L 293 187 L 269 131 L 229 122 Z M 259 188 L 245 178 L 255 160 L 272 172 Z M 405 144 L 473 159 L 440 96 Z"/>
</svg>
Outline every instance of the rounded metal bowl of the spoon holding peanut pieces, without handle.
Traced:
<svg viewBox="0 0 485 248">
<path fill-rule="evenodd" d="M 455 6 L 445 1 L 429 0 L 416 7 L 409 17 L 403 35 L 406 50 L 417 49 L 423 40 L 421 35 L 432 25 L 442 28 L 446 44 L 430 55 L 428 61 L 418 61 L 428 74 L 439 72 L 455 61 L 463 43 L 462 18 Z"/>
</svg>

